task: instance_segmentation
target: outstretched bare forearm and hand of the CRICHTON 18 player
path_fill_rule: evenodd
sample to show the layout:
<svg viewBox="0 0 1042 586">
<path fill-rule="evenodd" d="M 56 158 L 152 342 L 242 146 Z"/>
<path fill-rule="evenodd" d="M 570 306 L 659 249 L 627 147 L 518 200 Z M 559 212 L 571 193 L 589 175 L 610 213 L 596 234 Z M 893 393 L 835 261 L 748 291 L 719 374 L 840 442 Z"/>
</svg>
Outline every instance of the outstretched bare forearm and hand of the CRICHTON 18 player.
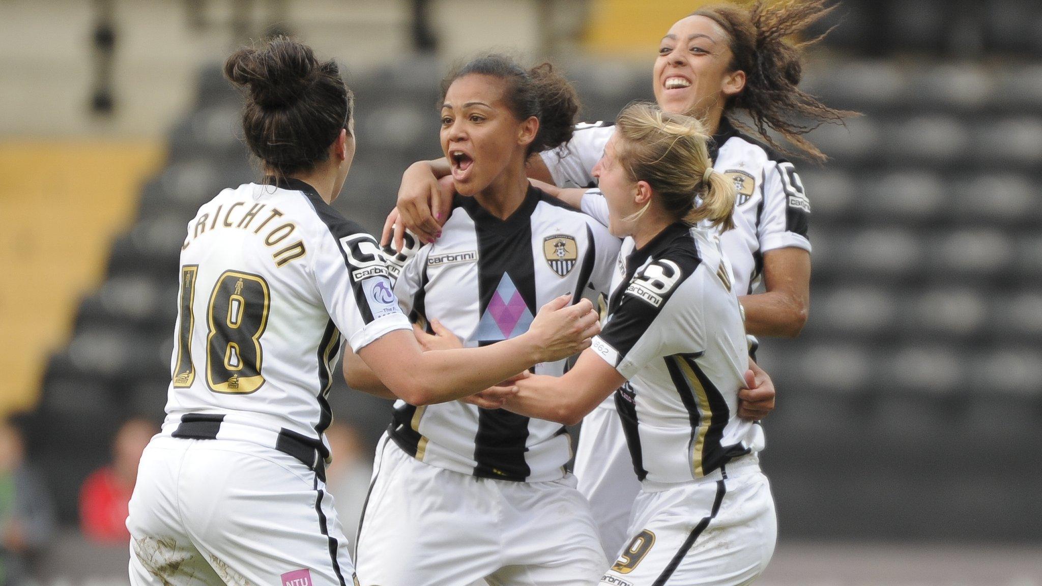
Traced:
<svg viewBox="0 0 1042 586">
<path fill-rule="evenodd" d="M 563 295 L 543 306 L 525 334 L 480 348 L 425 352 L 414 334 L 391 332 L 358 350 L 358 358 L 395 396 L 411 405 L 455 400 L 511 379 L 541 362 L 562 360 L 590 346 L 600 332 L 589 300 L 567 306 Z M 359 381 L 348 373 L 348 384 Z"/>
</svg>

